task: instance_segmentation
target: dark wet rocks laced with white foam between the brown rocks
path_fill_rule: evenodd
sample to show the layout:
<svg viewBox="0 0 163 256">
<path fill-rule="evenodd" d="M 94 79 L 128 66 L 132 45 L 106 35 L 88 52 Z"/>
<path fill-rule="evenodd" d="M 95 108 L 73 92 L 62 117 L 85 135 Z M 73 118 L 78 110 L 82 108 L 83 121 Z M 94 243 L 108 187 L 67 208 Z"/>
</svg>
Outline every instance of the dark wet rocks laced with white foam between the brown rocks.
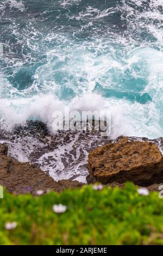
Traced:
<svg viewBox="0 0 163 256">
<path fill-rule="evenodd" d="M 27 121 L 9 131 L 0 130 L 0 143 L 19 162 L 34 164 L 54 180 L 86 182 L 89 153 L 109 143 L 101 131 L 58 131 L 51 133 L 41 121 Z"/>
</svg>

